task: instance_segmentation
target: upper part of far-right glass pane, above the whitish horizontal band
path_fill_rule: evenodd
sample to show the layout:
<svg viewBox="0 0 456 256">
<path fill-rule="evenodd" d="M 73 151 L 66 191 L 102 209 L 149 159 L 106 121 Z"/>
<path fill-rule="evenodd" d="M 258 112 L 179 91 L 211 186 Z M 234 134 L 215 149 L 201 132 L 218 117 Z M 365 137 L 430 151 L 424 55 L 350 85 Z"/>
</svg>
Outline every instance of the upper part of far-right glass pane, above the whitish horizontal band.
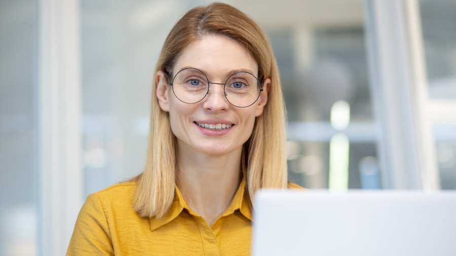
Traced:
<svg viewBox="0 0 456 256">
<path fill-rule="evenodd" d="M 421 0 L 429 96 L 456 100 L 456 2 Z"/>
</svg>

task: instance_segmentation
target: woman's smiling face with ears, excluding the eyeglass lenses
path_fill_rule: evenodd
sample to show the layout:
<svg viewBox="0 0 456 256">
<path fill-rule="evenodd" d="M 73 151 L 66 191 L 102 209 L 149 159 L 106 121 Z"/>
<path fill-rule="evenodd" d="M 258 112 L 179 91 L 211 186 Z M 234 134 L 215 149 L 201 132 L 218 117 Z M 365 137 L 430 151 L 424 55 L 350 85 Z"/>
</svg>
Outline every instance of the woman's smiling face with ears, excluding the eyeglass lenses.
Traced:
<svg viewBox="0 0 456 256">
<path fill-rule="evenodd" d="M 222 35 L 204 36 L 185 48 L 173 67 L 173 75 L 188 67 L 203 71 L 214 83 L 224 83 L 237 70 L 258 74 L 258 65 L 246 48 Z M 222 84 L 210 83 L 209 94 L 202 101 L 187 104 L 176 98 L 162 71 L 156 79 L 157 98 L 160 107 L 169 112 L 179 152 L 209 155 L 242 151 L 242 145 L 252 133 L 255 117 L 262 113 L 268 101 L 271 83 L 269 78 L 265 79 L 258 100 L 249 107 L 239 108 L 226 100 Z"/>
</svg>

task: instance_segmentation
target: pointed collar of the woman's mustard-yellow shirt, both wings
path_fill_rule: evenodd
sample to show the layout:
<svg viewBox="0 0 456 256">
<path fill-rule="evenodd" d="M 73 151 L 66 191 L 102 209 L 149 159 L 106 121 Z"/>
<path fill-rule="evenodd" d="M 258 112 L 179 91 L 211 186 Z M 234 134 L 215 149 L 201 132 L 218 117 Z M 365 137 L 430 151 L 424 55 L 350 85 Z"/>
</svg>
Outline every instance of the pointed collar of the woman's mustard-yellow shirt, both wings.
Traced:
<svg viewBox="0 0 456 256">
<path fill-rule="evenodd" d="M 242 215 L 247 219 L 252 220 L 252 210 L 247 197 L 248 195 L 245 193 L 245 182 L 244 179 L 242 179 L 231 204 L 223 211 L 222 217 L 229 216 L 239 209 Z M 184 208 L 194 214 L 194 211 L 188 207 L 179 189 L 175 186 L 174 199 L 171 208 L 168 213 L 160 219 L 150 218 L 150 231 L 154 231 L 174 220 Z"/>
</svg>

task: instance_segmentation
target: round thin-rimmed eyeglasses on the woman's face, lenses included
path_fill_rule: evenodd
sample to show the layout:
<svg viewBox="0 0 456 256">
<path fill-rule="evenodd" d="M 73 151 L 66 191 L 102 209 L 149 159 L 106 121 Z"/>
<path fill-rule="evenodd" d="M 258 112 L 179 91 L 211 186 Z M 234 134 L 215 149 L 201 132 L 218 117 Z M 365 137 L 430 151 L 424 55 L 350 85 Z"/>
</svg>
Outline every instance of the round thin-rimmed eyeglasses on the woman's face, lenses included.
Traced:
<svg viewBox="0 0 456 256">
<path fill-rule="evenodd" d="M 233 106 L 245 108 L 255 103 L 260 92 L 261 83 L 249 72 L 236 72 L 224 83 L 210 82 L 203 71 L 196 68 L 184 68 L 177 72 L 169 83 L 178 100 L 188 104 L 202 101 L 209 94 L 209 83 L 223 85 L 223 93 Z"/>
</svg>

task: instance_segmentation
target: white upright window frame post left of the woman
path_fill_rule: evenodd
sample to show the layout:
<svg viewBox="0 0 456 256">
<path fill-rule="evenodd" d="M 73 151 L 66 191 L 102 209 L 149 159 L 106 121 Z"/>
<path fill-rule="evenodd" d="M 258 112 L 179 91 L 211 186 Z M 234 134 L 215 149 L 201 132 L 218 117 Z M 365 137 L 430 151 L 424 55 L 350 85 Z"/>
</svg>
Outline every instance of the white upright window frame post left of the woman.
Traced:
<svg viewBox="0 0 456 256">
<path fill-rule="evenodd" d="M 39 2 L 43 255 L 63 255 L 82 203 L 79 1 Z"/>
</svg>

